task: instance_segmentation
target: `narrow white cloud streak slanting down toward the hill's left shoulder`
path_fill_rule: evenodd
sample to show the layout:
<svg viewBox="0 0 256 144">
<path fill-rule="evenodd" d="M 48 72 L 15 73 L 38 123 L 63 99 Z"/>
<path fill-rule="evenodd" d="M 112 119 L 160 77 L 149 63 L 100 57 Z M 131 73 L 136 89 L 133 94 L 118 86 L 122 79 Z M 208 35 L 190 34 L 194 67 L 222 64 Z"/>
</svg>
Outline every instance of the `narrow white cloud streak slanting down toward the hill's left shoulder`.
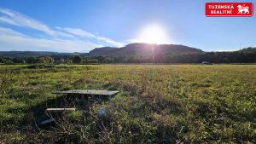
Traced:
<svg viewBox="0 0 256 144">
<path fill-rule="evenodd" d="M 69 27 L 60 27 L 60 26 L 56 26 L 56 28 L 57 28 L 58 30 L 63 31 L 63 32 L 68 32 L 68 33 L 71 33 L 71 34 L 76 35 L 76 36 L 79 36 L 79 37 L 90 37 L 90 38 L 94 38 L 94 39 L 96 39 L 97 41 L 100 41 L 100 42 L 103 42 L 103 43 L 107 43 L 107 44 L 111 44 L 111 45 L 116 46 L 116 47 L 124 46 L 124 43 L 114 41 L 113 39 L 110 39 L 110 38 L 108 38 L 108 37 L 96 36 L 95 34 L 90 33 L 90 32 L 87 32 L 87 31 L 84 31 L 84 30 L 82 30 L 82 29 L 78 29 L 78 28 L 69 28 Z"/>
</svg>

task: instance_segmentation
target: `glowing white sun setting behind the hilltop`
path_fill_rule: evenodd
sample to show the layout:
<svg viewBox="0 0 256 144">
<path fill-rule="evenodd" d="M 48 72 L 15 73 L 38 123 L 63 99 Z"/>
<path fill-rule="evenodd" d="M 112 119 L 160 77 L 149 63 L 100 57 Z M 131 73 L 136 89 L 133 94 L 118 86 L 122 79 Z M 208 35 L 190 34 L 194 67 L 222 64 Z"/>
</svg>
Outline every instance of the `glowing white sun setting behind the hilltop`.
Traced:
<svg viewBox="0 0 256 144">
<path fill-rule="evenodd" d="M 170 43 L 170 38 L 163 26 L 151 24 L 143 27 L 136 41 L 138 43 L 166 44 Z"/>
</svg>

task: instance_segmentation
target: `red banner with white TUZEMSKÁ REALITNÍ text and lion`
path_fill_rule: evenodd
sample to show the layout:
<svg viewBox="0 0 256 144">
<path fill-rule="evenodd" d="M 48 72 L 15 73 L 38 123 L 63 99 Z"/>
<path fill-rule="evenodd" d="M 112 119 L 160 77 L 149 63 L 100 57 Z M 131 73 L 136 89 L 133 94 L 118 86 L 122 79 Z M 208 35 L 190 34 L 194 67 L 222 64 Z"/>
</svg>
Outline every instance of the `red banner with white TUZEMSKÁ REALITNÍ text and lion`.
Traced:
<svg viewBox="0 0 256 144">
<path fill-rule="evenodd" d="M 206 16 L 253 16 L 253 3 L 206 3 Z"/>
</svg>

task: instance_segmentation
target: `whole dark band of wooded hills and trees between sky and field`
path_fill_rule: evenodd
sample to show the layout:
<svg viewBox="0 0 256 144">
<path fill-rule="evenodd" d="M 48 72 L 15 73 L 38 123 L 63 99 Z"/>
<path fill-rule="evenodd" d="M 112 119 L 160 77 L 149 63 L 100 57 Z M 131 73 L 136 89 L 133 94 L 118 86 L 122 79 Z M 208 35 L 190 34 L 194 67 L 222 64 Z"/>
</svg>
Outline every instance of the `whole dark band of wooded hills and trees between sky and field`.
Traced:
<svg viewBox="0 0 256 144">
<path fill-rule="evenodd" d="M 46 58 L 45 58 L 46 57 Z M 122 48 L 104 47 L 90 53 L 0 51 L 0 64 L 12 63 L 256 63 L 256 48 L 204 52 L 173 44 L 131 43 Z"/>
</svg>

